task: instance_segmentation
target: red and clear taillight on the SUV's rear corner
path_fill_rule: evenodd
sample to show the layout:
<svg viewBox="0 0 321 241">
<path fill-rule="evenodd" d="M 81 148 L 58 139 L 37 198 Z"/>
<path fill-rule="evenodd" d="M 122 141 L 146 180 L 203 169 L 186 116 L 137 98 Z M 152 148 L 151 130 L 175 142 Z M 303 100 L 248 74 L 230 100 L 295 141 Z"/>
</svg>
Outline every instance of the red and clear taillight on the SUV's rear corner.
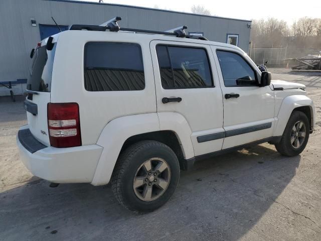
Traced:
<svg viewBox="0 0 321 241">
<path fill-rule="evenodd" d="M 48 103 L 48 133 L 53 147 L 81 146 L 77 103 Z"/>
</svg>

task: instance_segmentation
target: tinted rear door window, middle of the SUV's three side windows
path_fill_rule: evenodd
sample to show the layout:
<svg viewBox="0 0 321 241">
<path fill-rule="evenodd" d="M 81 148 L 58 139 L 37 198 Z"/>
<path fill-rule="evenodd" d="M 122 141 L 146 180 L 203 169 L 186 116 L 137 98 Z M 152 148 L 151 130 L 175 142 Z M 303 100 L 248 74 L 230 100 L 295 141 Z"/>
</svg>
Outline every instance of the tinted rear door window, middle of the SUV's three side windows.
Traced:
<svg viewBox="0 0 321 241">
<path fill-rule="evenodd" d="M 157 45 L 156 52 L 164 89 L 213 86 L 205 49 Z"/>
</svg>

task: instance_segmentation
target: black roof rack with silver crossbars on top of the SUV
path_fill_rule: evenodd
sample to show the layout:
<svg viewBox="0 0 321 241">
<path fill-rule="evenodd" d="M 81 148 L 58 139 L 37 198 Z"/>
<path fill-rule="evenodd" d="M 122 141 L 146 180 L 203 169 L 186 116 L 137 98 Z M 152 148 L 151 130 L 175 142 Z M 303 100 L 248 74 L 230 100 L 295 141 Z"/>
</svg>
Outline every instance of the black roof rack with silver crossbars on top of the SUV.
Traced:
<svg viewBox="0 0 321 241">
<path fill-rule="evenodd" d="M 101 25 L 72 25 L 69 30 L 88 30 L 88 31 L 106 31 L 109 30 L 111 32 L 119 32 L 119 31 L 130 31 L 130 32 L 138 32 L 138 33 L 147 33 L 147 34 L 161 34 L 161 35 L 170 35 L 179 38 L 189 38 L 189 39 L 201 39 L 208 40 L 203 36 L 189 35 L 186 34 L 185 29 L 187 26 L 181 26 L 175 29 L 167 30 L 167 31 L 155 31 L 155 30 L 145 30 L 145 29 L 130 29 L 130 28 L 120 28 L 118 25 L 118 21 L 121 20 L 121 17 L 115 17 Z"/>
</svg>

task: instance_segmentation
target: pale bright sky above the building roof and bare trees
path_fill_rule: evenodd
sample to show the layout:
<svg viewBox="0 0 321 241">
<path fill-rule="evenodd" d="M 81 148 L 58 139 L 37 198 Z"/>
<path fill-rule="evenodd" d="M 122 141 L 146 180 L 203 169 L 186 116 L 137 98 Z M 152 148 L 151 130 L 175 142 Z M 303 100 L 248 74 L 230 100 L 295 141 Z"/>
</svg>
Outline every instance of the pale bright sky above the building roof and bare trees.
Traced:
<svg viewBox="0 0 321 241">
<path fill-rule="evenodd" d="M 79 0 L 78 0 L 79 1 Z M 98 0 L 80 0 L 84 2 L 99 2 Z M 146 8 L 173 10 L 179 12 L 191 12 L 193 5 L 203 5 L 212 15 L 235 19 L 267 19 L 268 17 L 277 18 L 286 21 L 291 25 L 295 20 L 301 17 L 321 18 L 321 1 L 284 1 L 284 0 L 198 0 L 198 1 L 173 1 L 173 0 L 118 0 L 107 1 L 104 3 L 134 5 Z"/>
</svg>

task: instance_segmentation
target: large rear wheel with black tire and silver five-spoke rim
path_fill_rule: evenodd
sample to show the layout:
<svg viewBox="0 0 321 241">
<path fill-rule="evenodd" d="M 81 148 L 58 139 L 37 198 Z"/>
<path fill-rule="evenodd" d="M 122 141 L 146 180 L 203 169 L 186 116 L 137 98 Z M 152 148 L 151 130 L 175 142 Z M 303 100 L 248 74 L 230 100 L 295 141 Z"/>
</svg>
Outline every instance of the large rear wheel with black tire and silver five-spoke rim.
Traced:
<svg viewBox="0 0 321 241">
<path fill-rule="evenodd" d="M 179 161 L 171 148 L 156 141 L 140 141 L 120 154 L 111 183 L 125 208 L 143 213 L 164 205 L 179 179 Z"/>
</svg>

